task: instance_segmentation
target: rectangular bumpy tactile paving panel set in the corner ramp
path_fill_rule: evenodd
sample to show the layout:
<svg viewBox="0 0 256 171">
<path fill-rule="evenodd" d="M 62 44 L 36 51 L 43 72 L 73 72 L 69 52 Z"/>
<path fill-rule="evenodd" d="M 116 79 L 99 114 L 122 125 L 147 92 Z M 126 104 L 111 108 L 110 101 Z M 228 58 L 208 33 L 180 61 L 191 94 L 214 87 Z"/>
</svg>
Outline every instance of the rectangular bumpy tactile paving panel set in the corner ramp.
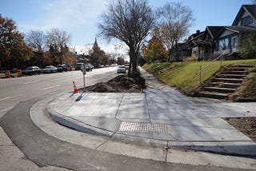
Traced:
<svg viewBox="0 0 256 171">
<path fill-rule="evenodd" d="M 118 131 L 139 133 L 169 133 L 170 125 L 161 123 L 122 121 Z"/>
</svg>

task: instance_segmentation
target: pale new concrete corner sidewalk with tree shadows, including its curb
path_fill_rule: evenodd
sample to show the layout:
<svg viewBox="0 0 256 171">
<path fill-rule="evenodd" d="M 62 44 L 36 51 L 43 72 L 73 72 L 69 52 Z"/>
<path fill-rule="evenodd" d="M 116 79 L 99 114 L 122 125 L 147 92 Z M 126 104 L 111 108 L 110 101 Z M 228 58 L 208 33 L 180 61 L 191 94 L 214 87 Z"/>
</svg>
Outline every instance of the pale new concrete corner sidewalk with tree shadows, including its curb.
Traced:
<svg viewBox="0 0 256 171">
<path fill-rule="evenodd" d="M 62 125 L 114 141 L 256 155 L 256 143 L 222 119 L 256 117 L 256 103 L 198 102 L 141 72 L 144 93 L 66 94 L 47 113 Z"/>
</svg>

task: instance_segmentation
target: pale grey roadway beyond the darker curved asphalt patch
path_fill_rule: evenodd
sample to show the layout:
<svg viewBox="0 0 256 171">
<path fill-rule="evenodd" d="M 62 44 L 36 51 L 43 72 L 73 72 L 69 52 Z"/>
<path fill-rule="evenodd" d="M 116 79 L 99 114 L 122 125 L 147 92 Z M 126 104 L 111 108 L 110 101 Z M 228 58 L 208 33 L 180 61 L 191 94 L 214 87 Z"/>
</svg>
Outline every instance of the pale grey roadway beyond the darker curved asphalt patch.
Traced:
<svg viewBox="0 0 256 171">
<path fill-rule="evenodd" d="M 93 70 L 86 73 L 86 85 L 104 82 L 115 76 L 116 67 Z M 20 101 L 41 97 L 47 93 L 70 92 L 73 90 L 73 81 L 77 87 L 83 86 L 81 71 L 0 79 L 0 117 Z"/>
</svg>

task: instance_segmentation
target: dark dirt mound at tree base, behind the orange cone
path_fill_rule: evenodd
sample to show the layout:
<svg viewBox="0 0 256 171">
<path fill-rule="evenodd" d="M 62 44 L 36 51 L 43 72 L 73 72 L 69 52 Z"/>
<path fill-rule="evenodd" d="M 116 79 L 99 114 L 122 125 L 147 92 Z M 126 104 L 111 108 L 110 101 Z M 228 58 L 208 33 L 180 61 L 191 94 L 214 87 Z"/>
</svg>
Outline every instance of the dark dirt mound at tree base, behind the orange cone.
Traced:
<svg viewBox="0 0 256 171">
<path fill-rule="evenodd" d="M 98 82 L 86 87 L 86 92 L 98 93 L 141 93 L 145 89 L 145 79 L 138 76 L 128 78 L 126 75 L 119 75 L 109 82 Z M 83 89 L 79 89 L 83 91 Z"/>
</svg>

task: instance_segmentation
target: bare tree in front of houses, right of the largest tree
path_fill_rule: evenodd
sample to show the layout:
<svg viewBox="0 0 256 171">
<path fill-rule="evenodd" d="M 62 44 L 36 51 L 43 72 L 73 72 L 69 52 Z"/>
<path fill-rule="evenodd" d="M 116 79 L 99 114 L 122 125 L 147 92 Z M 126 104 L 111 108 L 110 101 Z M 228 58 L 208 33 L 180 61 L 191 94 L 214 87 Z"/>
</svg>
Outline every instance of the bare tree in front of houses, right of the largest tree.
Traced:
<svg viewBox="0 0 256 171">
<path fill-rule="evenodd" d="M 168 50 L 176 50 L 178 41 L 186 36 L 192 22 L 193 12 L 189 7 L 183 6 L 182 2 L 167 2 L 158 9 L 159 27 L 162 42 Z M 174 51 L 170 52 L 171 60 L 176 60 Z"/>
</svg>

